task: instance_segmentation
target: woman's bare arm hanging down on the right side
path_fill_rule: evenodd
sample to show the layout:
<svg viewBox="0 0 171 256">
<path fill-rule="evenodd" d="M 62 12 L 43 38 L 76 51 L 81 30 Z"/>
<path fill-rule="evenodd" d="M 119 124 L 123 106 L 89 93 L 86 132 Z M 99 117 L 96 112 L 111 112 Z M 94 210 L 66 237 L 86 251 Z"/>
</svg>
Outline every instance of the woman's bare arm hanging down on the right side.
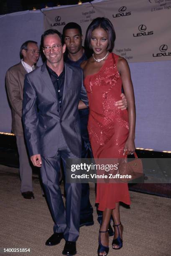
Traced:
<svg viewBox="0 0 171 256">
<path fill-rule="evenodd" d="M 125 143 L 125 149 L 127 151 L 127 154 L 131 154 L 133 153 L 133 151 L 135 151 L 135 98 L 133 83 L 131 80 L 130 69 L 126 59 L 122 57 L 119 58 L 117 62 L 117 69 L 119 70 L 121 75 L 123 89 L 128 105 L 129 136 Z M 124 151 L 124 154 L 126 151 Z"/>
</svg>

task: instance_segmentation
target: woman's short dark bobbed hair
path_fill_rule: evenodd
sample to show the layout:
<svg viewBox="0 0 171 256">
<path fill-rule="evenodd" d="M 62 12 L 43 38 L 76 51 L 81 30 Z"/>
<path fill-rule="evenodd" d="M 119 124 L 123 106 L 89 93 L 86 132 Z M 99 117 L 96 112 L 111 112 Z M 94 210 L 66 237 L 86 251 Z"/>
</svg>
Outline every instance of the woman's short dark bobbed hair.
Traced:
<svg viewBox="0 0 171 256">
<path fill-rule="evenodd" d="M 92 36 L 92 31 L 96 28 L 103 28 L 108 35 L 108 46 L 107 46 L 107 51 L 112 51 L 114 47 L 114 42 L 115 42 L 115 30 L 113 28 L 112 23 L 110 20 L 108 20 L 105 17 L 98 17 L 95 18 L 88 26 L 87 31 L 86 31 L 86 36 L 85 36 L 85 43 L 86 46 L 89 47 L 89 49 L 92 49 L 91 47 L 91 36 Z"/>
</svg>

